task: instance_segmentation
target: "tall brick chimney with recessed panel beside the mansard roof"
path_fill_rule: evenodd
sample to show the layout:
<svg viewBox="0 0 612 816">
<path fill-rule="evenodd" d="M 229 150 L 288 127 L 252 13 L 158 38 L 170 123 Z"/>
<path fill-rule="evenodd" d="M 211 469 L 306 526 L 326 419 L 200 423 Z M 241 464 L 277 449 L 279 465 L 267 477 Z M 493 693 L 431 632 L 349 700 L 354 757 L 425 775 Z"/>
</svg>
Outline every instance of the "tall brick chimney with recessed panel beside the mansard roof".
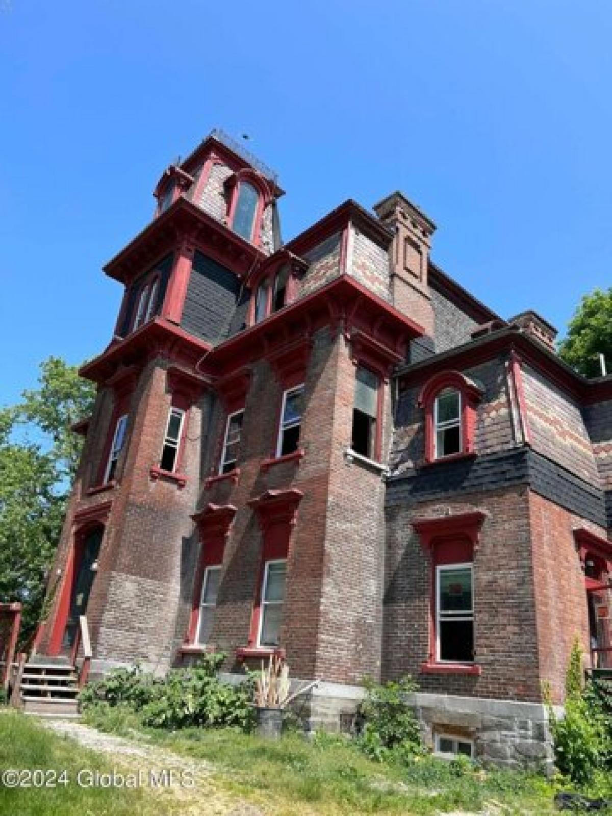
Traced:
<svg viewBox="0 0 612 816">
<path fill-rule="evenodd" d="M 432 338 L 434 322 L 428 265 L 436 224 L 399 192 L 375 204 L 374 211 L 384 224 L 395 230 L 389 248 L 393 305 L 420 323 L 426 335 Z"/>
</svg>

